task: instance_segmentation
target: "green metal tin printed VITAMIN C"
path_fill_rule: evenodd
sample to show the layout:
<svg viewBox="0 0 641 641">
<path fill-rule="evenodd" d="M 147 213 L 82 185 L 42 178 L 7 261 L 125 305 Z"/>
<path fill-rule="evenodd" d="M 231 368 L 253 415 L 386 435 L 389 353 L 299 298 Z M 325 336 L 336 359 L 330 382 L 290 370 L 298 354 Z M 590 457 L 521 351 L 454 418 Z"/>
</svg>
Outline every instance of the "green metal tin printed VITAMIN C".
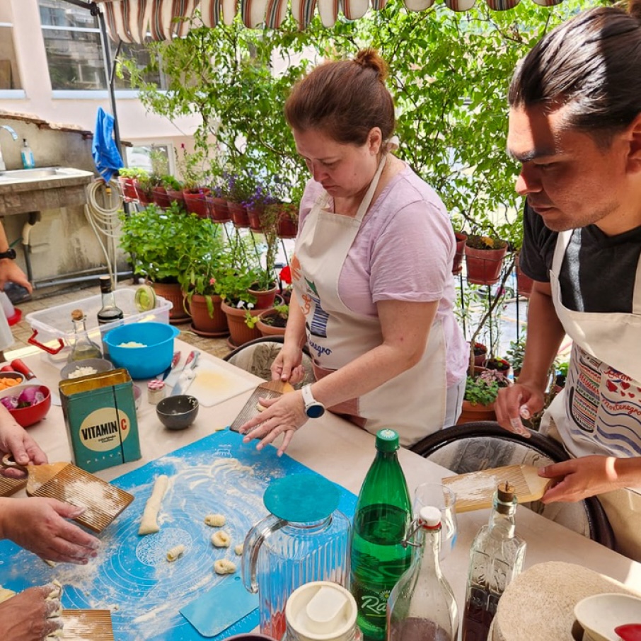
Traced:
<svg viewBox="0 0 641 641">
<path fill-rule="evenodd" d="M 96 472 L 140 458 L 134 386 L 126 369 L 60 381 L 74 463 Z"/>
</svg>

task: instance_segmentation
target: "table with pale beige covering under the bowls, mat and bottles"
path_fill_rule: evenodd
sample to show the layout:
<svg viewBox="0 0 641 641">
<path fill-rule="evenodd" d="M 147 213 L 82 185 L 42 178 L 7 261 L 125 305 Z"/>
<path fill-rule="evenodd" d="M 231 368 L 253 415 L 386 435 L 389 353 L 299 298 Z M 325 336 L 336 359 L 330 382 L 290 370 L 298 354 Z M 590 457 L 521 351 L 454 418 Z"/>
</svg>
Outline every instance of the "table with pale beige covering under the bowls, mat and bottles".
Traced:
<svg viewBox="0 0 641 641">
<path fill-rule="evenodd" d="M 190 346 L 177 340 L 176 349 L 187 354 Z M 252 374 L 215 359 L 209 354 L 203 353 L 200 358 L 215 361 L 218 366 L 229 369 L 230 373 L 242 376 L 250 382 L 255 381 L 256 385 L 262 382 Z M 48 361 L 44 352 L 25 358 L 25 362 L 43 383 L 53 388 L 57 387 L 59 371 Z M 144 384 L 138 384 L 144 387 Z M 154 406 L 146 403 L 145 391 L 138 412 L 142 459 L 108 468 L 98 475 L 105 480 L 112 480 L 127 471 L 137 469 L 149 461 L 154 461 L 160 456 L 206 437 L 213 429 L 229 425 L 250 393 L 245 391 L 219 405 L 201 407 L 195 423 L 190 428 L 182 432 L 171 432 L 158 422 Z M 46 420 L 29 428 L 29 432 L 47 452 L 50 461 L 70 460 L 71 454 L 61 408 L 52 407 Z M 325 413 L 320 419 L 309 421 L 299 429 L 287 449 L 287 454 L 357 495 L 374 458 L 374 437 L 335 415 Z M 399 458 L 410 492 L 413 492 L 420 483 L 437 483 L 444 476 L 451 474 L 449 470 L 405 449 L 400 450 Z M 459 609 L 464 604 L 470 543 L 480 526 L 487 522 L 488 516 L 488 510 L 458 515 L 458 541 L 453 552 L 442 563 L 444 574 L 454 589 Z M 525 567 L 544 561 L 565 561 L 601 572 L 630 587 L 641 585 L 641 564 L 548 521 L 529 509 L 517 508 L 516 527 L 519 536 L 528 543 Z"/>
</svg>

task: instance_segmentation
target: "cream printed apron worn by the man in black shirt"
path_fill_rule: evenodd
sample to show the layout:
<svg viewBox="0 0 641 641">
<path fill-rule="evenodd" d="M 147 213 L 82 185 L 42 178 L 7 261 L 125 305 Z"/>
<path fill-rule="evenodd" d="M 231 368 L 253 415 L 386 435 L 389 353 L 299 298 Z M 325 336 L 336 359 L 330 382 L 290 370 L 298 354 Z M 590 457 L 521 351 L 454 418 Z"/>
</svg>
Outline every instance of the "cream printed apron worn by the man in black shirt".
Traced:
<svg viewBox="0 0 641 641">
<path fill-rule="evenodd" d="M 562 304 L 558 279 L 571 235 L 559 233 L 550 284 L 572 356 L 565 390 L 548 411 L 572 456 L 641 456 L 641 259 L 632 313 L 573 311 Z M 617 549 L 641 561 L 641 487 L 606 492 L 599 500 Z"/>
</svg>

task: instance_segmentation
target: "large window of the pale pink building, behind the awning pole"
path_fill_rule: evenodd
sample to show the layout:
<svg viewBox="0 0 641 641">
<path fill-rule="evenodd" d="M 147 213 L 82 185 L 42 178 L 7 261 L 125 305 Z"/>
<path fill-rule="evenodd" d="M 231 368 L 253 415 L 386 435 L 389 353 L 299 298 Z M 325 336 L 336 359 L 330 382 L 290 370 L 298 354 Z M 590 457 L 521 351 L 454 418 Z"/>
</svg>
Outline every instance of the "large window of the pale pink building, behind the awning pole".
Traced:
<svg viewBox="0 0 641 641">
<path fill-rule="evenodd" d="M 51 85 L 56 89 L 106 89 L 107 74 L 100 40 L 98 18 L 85 8 L 64 0 L 39 0 L 42 35 L 45 39 Z M 116 45 L 109 41 L 111 59 Z M 142 45 L 122 45 L 121 54 L 137 59 L 140 67 L 149 62 L 149 54 Z M 149 82 L 161 85 L 161 77 L 147 77 Z M 115 86 L 129 89 L 126 80 L 115 78 Z"/>
</svg>

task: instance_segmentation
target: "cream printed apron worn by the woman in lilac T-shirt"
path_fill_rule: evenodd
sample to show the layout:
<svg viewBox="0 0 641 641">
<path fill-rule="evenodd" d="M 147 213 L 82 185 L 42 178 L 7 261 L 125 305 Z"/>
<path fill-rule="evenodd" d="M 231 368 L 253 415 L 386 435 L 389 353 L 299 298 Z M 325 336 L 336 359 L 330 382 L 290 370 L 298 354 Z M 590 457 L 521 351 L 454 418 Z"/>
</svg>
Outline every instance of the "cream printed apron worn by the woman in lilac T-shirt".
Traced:
<svg viewBox="0 0 641 641">
<path fill-rule="evenodd" d="M 338 281 L 386 161 L 387 156 L 383 156 L 355 216 L 328 211 L 330 197 L 325 192 L 296 239 L 295 259 L 300 271 L 294 270 L 292 276 L 306 317 L 317 380 L 383 342 L 379 318 L 348 308 L 338 294 Z M 445 406 L 445 341 L 441 321 L 437 320 L 419 363 L 374 391 L 329 409 L 347 415 L 372 434 L 391 427 L 398 432 L 400 444 L 409 446 L 443 427 Z"/>
</svg>

